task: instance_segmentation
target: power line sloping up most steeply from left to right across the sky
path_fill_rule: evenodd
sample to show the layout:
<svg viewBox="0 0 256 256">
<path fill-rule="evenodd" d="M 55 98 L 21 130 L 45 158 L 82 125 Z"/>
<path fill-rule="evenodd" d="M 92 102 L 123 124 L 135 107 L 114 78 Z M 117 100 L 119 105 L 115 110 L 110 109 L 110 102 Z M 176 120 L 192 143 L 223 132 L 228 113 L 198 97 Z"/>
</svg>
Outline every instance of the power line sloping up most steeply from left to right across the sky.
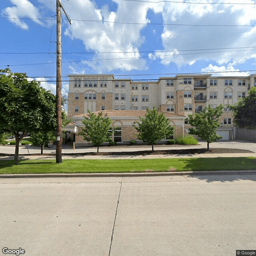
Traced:
<svg viewBox="0 0 256 256">
<path fill-rule="evenodd" d="M 256 50 L 256 49 L 250 49 Z M 95 60 L 70 60 L 63 61 L 62 63 L 71 63 L 71 62 L 92 62 L 92 61 L 102 61 L 102 60 L 126 60 L 126 59 L 134 59 L 134 58 L 159 58 L 166 56 L 180 56 L 180 55 L 194 55 L 194 54 L 208 54 L 208 53 L 219 53 L 219 52 L 241 52 L 244 50 L 232 50 L 232 51 L 215 51 L 215 52 L 194 52 L 194 53 L 182 53 L 182 54 L 166 54 L 166 55 L 155 55 L 155 56 L 136 56 L 136 57 L 122 57 L 122 58 L 104 58 L 104 59 L 95 59 Z M 55 64 L 55 62 L 44 62 L 44 63 L 30 63 L 30 64 L 13 64 L 13 65 L 4 65 L 5 66 L 32 66 L 32 65 L 44 65 L 44 64 Z"/>
</svg>

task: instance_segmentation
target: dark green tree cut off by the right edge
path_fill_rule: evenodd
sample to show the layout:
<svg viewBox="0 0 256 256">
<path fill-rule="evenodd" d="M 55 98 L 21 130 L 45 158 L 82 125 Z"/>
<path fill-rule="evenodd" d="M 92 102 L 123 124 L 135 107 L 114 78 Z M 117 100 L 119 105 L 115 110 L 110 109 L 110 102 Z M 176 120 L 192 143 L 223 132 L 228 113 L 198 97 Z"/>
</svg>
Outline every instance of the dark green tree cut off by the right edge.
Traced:
<svg viewBox="0 0 256 256">
<path fill-rule="evenodd" d="M 239 98 L 234 105 L 228 105 L 233 111 L 233 122 L 240 128 L 256 128 L 256 87 L 252 87 L 248 96 Z"/>
</svg>

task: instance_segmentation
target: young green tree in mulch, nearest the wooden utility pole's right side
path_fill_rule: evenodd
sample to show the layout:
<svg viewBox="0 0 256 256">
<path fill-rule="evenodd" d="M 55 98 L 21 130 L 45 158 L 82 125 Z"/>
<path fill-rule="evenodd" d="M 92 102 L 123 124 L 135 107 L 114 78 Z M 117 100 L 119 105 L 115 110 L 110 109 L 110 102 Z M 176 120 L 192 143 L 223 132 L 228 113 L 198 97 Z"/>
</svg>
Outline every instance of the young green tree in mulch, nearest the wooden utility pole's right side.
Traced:
<svg viewBox="0 0 256 256">
<path fill-rule="evenodd" d="M 88 113 L 90 117 L 84 117 L 82 121 L 84 128 L 79 134 L 84 137 L 84 140 L 91 141 L 97 147 L 98 153 L 99 146 L 111 140 L 111 134 L 115 129 L 112 129 L 112 132 L 109 131 L 112 121 L 107 115 L 103 116 L 102 112 L 98 113 L 98 116 L 89 110 Z"/>
</svg>

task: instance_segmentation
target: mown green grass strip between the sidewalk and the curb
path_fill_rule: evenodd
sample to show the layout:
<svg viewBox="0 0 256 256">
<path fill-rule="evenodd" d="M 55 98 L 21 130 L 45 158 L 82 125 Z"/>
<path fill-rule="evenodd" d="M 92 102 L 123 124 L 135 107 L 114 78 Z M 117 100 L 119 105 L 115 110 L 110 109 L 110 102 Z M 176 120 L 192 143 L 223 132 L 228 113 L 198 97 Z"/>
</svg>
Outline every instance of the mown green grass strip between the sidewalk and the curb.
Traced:
<svg viewBox="0 0 256 256">
<path fill-rule="evenodd" d="M 255 157 L 140 160 L 0 160 L 0 174 L 256 170 Z"/>
</svg>

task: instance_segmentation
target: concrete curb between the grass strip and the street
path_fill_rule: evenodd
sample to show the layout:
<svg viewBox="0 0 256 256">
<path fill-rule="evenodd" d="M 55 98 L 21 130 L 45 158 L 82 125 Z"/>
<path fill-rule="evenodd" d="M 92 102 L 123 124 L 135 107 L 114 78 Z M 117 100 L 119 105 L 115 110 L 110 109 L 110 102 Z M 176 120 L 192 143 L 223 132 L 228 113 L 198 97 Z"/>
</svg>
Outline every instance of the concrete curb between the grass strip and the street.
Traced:
<svg viewBox="0 0 256 256">
<path fill-rule="evenodd" d="M 73 178 L 73 177 L 146 177 L 174 175 L 243 175 L 256 174 L 256 170 L 242 171 L 195 171 L 195 172 L 126 172 L 126 173 L 68 173 L 68 174 L 0 174 L 0 178 Z"/>
</svg>

